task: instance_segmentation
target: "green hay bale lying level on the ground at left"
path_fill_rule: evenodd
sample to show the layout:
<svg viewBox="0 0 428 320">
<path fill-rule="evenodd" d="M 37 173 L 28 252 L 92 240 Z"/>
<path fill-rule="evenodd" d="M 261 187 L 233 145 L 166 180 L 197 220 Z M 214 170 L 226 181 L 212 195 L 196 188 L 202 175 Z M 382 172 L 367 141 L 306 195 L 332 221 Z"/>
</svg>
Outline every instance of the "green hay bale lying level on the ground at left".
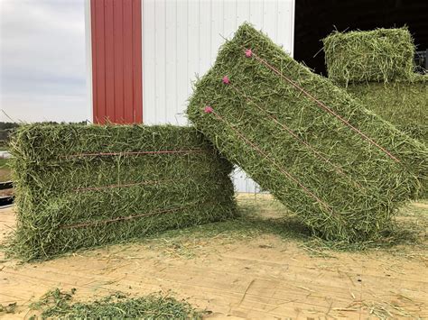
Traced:
<svg viewBox="0 0 428 320">
<path fill-rule="evenodd" d="M 23 125 L 12 153 L 26 259 L 237 214 L 232 165 L 192 128 Z"/>
</svg>

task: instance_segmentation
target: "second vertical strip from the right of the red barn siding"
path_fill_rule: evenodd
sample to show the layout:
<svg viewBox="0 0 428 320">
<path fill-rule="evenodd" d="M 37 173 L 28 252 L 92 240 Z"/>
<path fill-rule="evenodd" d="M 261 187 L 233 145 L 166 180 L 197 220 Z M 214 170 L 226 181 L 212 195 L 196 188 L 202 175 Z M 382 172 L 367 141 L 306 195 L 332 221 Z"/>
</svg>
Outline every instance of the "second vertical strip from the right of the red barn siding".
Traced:
<svg viewBox="0 0 428 320">
<path fill-rule="evenodd" d="M 133 32 L 132 32 L 132 0 L 123 0 L 123 25 L 124 25 L 124 110 L 123 122 L 132 123 L 134 118 L 134 96 L 133 96 Z"/>
</svg>

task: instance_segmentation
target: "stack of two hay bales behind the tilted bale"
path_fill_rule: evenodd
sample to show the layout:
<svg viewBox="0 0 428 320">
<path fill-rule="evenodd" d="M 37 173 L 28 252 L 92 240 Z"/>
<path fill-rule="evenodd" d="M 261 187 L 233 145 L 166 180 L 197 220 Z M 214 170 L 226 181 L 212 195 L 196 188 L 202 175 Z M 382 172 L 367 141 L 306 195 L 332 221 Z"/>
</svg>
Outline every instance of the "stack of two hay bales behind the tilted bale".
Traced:
<svg viewBox="0 0 428 320">
<path fill-rule="evenodd" d="M 407 28 L 333 32 L 323 43 L 330 79 L 428 146 L 428 76 L 414 73 Z"/>
</svg>

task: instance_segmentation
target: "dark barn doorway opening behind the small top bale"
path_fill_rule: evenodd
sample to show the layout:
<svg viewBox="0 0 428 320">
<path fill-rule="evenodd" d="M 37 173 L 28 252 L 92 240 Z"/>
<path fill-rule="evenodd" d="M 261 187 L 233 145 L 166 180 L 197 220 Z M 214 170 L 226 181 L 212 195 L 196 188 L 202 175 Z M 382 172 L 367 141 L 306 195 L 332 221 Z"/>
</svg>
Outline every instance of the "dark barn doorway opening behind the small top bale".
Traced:
<svg viewBox="0 0 428 320">
<path fill-rule="evenodd" d="M 416 50 L 428 49 L 428 0 L 295 2 L 294 59 L 324 76 L 326 69 L 321 39 L 335 29 L 342 32 L 407 25 L 414 36 Z"/>
</svg>

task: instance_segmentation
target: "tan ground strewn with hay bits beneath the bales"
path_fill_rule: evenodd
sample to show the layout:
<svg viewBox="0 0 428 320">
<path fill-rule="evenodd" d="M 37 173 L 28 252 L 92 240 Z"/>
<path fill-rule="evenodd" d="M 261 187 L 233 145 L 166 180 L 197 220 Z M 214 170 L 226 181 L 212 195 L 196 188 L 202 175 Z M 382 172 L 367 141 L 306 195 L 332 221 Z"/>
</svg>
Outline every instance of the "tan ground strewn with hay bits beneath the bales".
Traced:
<svg viewBox="0 0 428 320">
<path fill-rule="evenodd" d="M 250 210 L 259 206 L 270 219 L 278 215 L 268 209 L 269 196 L 238 200 L 241 206 L 251 203 Z M 428 219 L 428 203 L 412 208 L 419 215 L 403 219 Z M 12 208 L 0 210 L 1 236 L 11 228 Z M 1 256 L 0 304 L 16 302 L 17 309 L 0 317 L 33 315 L 28 304 L 52 288 L 77 288 L 81 300 L 117 290 L 171 290 L 216 319 L 428 317 L 426 231 L 418 245 L 385 250 L 331 251 L 277 233 L 219 232 L 112 245 L 38 263 Z"/>
</svg>

